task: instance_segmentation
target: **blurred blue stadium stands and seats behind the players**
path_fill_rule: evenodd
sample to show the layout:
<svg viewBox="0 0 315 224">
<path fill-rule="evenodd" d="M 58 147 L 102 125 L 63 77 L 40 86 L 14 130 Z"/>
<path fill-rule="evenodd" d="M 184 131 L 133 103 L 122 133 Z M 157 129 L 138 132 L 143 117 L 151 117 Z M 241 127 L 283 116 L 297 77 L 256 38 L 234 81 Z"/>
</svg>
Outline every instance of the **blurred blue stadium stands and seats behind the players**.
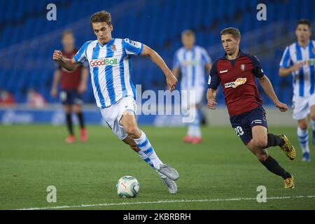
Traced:
<svg viewBox="0 0 315 224">
<path fill-rule="evenodd" d="M 46 19 L 48 3 L 57 6 L 56 21 Z M 258 3 L 267 6 L 266 21 L 256 19 Z M 193 29 L 197 45 L 206 48 L 214 60 L 223 55 L 221 29 L 237 27 L 242 35 L 241 49 L 260 59 L 276 94 L 286 104 L 291 102 L 292 78 L 280 78 L 278 75 L 281 55 L 286 45 L 295 41 L 297 20 L 307 18 L 313 25 L 315 22 L 315 14 L 311 10 L 315 8 L 315 1 L 311 0 L 15 0 L 0 1 L 0 8 L 0 90 L 12 94 L 16 102 L 10 113 L 8 108 L 0 110 L 2 123 L 45 123 L 51 120 L 62 123 L 62 115 L 49 110 L 51 106 L 45 108 L 45 114 L 34 113 L 33 109 L 28 113 L 21 110 L 28 109 L 29 90 L 39 92 L 49 105 L 59 104 L 59 99 L 50 96 L 55 69 L 52 52 L 62 49 L 60 38 L 64 29 L 73 30 L 76 48 L 87 40 L 93 40 L 95 36 L 89 18 L 98 10 L 108 10 L 112 14 L 114 37 L 146 43 L 160 53 L 169 67 L 172 67 L 174 52 L 181 47 L 183 29 Z M 141 84 L 142 91 L 165 90 L 165 78 L 158 66 L 144 57 L 134 57 L 133 62 L 132 79 L 135 85 Z M 261 95 L 265 104 L 271 105 L 263 92 Z M 84 99 L 87 104 L 93 105 L 92 112 L 95 111 L 90 78 Z M 218 102 L 224 106 L 222 92 L 218 94 Z M 59 109 L 58 106 L 54 108 Z M 87 123 L 99 123 L 98 111 L 97 114 L 97 119 L 87 119 Z M 139 122 L 153 123 L 154 118 L 141 117 Z"/>
</svg>

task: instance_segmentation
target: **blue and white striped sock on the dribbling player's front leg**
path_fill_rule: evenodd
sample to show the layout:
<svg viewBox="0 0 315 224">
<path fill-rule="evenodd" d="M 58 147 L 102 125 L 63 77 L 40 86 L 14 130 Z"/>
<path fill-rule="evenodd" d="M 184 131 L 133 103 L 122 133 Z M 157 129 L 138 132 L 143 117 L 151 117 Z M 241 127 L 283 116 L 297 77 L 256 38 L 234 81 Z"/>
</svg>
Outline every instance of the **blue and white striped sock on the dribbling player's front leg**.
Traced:
<svg viewBox="0 0 315 224">
<path fill-rule="evenodd" d="M 148 165 L 151 165 L 151 167 L 160 169 L 162 161 L 158 158 L 158 155 L 156 155 L 150 141 L 148 141 L 148 138 L 146 137 L 146 134 L 141 131 L 141 137 L 139 139 L 134 139 L 134 141 L 141 150 L 138 152 L 140 157 L 148 163 Z"/>
</svg>

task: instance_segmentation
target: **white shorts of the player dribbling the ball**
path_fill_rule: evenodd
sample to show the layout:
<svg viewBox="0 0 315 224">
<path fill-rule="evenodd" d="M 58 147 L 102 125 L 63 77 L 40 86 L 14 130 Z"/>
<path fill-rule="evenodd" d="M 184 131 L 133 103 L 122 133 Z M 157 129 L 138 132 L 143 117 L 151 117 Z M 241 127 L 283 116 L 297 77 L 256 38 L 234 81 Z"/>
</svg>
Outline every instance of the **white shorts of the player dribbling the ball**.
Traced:
<svg viewBox="0 0 315 224">
<path fill-rule="evenodd" d="M 116 102 L 116 104 L 100 110 L 102 117 L 104 118 L 107 125 L 109 125 L 113 133 L 116 134 L 120 140 L 125 139 L 127 134 L 119 122 L 125 111 L 132 111 L 134 115 L 136 115 L 137 103 L 134 100 L 134 97 L 124 97 L 123 99 L 120 99 L 118 102 Z"/>
</svg>

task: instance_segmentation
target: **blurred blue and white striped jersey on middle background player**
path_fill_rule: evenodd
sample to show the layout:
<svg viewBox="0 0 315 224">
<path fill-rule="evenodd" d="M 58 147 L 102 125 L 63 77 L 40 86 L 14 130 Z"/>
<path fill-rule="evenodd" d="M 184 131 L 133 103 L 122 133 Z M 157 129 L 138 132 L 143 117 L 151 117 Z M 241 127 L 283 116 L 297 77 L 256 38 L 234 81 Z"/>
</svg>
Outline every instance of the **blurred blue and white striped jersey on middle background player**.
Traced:
<svg viewBox="0 0 315 224">
<path fill-rule="evenodd" d="M 208 63 L 211 63 L 211 58 L 204 48 L 197 45 L 190 50 L 179 48 L 174 55 L 173 66 L 181 69 L 181 89 L 204 87 L 204 66 Z"/>
</svg>

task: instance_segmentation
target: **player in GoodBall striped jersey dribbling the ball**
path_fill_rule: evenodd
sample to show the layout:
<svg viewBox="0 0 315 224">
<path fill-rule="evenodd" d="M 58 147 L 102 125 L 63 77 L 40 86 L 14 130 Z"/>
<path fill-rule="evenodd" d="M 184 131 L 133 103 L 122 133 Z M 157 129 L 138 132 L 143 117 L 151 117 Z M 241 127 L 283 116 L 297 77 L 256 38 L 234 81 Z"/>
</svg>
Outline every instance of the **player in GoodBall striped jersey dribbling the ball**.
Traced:
<svg viewBox="0 0 315 224">
<path fill-rule="evenodd" d="M 106 11 L 94 13 L 90 23 L 95 41 L 87 41 L 72 59 L 65 59 L 59 50 L 55 50 L 53 59 L 64 69 L 73 71 L 78 64 L 87 60 L 90 64 L 92 87 L 97 106 L 106 123 L 116 136 L 130 145 L 140 157 L 153 167 L 169 188 L 169 193 L 176 193 L 176 169 L 162 163 L 156 155 L 146 134 L 137 126 L 136 91 L 131 80 L 130 55 L 150 57 L 165 73 L 167 85 L 174 90 L 176 77 L 169 70 L 157 52 L 137 41 L 128 38 L 112 38 L 111 14 Z"/>
</svg>

